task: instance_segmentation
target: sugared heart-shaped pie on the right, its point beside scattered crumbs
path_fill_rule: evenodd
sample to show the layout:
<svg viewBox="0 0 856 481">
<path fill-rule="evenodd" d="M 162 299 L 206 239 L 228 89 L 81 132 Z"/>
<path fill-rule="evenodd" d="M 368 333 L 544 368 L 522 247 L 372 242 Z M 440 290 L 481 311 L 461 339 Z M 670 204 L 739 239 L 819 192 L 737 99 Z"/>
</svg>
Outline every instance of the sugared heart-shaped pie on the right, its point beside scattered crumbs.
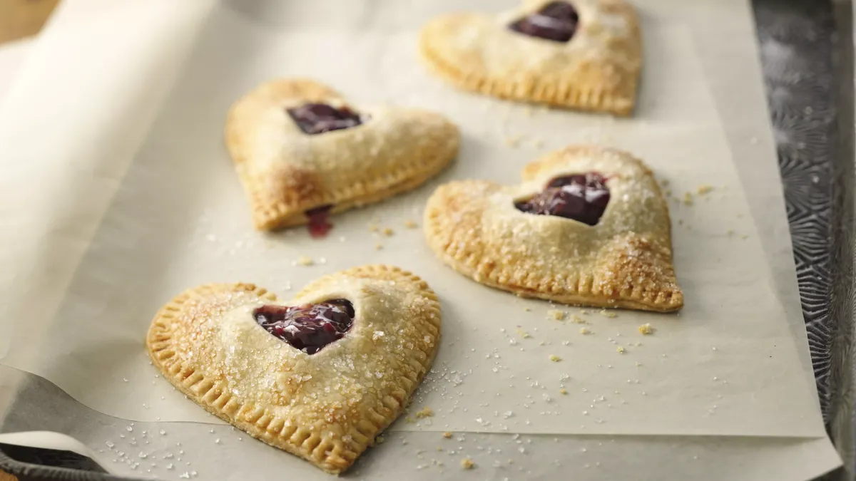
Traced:
<svg viewBox="0 0 856 481">
<path fill-rule="evenodd" d="M 624 151 L 572 145 L 527 164 L 520 186 L 438 187 L 425 237 L 461 274 L 521 296 L 658 312 L 684 304 L 669 206 Z"/>
</svg>

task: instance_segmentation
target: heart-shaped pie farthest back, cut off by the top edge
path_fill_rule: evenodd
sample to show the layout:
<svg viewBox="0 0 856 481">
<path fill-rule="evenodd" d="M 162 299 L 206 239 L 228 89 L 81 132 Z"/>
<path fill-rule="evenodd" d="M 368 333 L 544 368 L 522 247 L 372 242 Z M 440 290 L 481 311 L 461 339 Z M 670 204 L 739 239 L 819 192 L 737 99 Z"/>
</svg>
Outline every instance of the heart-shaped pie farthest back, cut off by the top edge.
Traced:
<svg viewBox="0 0 856 481">
<path fill-rule="evenodd" d="M 456 13 L 419 50 L 453 84 L 500 98 L 627 116 L 642 66 L 639 21 L 621 0 L 526 0 L 499 15 Z"/>
</svg>

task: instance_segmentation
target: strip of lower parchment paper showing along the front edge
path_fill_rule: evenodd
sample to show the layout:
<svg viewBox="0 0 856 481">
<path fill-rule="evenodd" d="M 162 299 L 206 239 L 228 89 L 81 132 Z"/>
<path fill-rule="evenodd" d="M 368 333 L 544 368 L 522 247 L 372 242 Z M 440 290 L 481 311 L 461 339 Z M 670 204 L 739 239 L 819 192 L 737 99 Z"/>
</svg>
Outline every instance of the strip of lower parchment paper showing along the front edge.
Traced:
<svg viewBox="0 0 856 481">
<path fill-rule="evenodd" d="M 0 365 L 0 397 L 3 381 L 29 382 L 24 389 L 8 384 L 17 400 L 14 412 L 0 417 L 0 432 L 47 429 L 74 436 L 110 472 L 175 480 L 331 479 L 231 426 L 111 418 L 44 379 L 10 371 Z M 476 463 L 473 471 L 461 470 L 465 458 Z M 342 478 L 805 481 L 838 464 L 829 441 L 820 438 L 455 433 L 444 439 L 407 431 L 385 436 Z"/>
</svg>

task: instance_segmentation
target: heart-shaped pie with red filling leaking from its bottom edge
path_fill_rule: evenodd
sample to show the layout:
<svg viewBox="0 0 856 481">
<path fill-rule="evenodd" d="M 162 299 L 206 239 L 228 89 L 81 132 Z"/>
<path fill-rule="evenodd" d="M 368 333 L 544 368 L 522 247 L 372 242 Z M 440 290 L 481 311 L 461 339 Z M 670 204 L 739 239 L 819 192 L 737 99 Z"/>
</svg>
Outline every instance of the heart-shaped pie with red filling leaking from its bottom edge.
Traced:
<svg viewBox="0 0 856 481">
<path fill-rule="evenodd" d="M 443 116 L 356 108 L 312 80 L 275 80 L 229 112 L 226 145 L 259 230 L 310 224 L 411 190 L 455 158 L 460 136 Z"/>
</svg>

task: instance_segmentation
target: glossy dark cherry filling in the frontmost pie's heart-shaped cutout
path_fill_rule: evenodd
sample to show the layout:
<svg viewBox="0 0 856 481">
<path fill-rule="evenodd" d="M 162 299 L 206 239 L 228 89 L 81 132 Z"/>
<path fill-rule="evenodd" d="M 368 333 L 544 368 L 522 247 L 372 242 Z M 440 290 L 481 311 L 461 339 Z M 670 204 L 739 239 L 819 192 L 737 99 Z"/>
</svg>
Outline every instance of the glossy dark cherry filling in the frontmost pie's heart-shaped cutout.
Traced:
<svg viewBox="0 0 856 481">
<path fill-rule="evenodd" d="M 302 306 L 261 306 L 253 311 L 253 318 L 271 335 L 314 354 L 351 329 L 354 305 L 334 299 Z"/>
</svg>

